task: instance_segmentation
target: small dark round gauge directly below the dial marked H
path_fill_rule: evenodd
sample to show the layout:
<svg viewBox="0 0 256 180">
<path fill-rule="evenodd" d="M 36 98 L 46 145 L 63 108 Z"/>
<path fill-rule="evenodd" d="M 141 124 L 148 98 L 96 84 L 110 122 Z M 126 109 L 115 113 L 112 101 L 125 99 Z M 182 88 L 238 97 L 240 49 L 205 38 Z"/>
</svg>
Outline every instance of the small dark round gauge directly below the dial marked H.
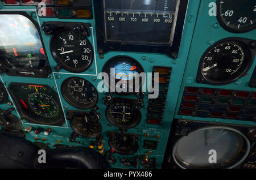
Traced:
<svg viewBox="0 0 256 180">
<path fill-rule="evenodd" d="M 75 114 L 70 120 L 72 129 L 79 135 L 87 138 L 94 138 L 101 134 L 101 124 L 98 115 Z"/>
</svg>

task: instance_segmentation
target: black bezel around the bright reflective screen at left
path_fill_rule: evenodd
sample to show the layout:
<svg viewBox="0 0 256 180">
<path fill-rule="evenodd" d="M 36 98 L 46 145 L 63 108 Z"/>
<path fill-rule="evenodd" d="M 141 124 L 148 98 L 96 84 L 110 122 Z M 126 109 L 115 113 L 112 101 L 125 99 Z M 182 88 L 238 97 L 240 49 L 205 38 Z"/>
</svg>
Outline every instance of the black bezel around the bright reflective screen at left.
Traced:
<svg viewBox="0 0 256 180">
<path fill-rule="evenodd" d="M 35 25 L 36 29 L 38 30 L 39 37 L 40 37 L 40 40 L 42 42 L 42 46 L 43 46 L 43 49 L 44 49 L 44 56 L 46 57 L 46 64 L 44 65 L 43 68 L 40 68 L 39 70 L 33 70 L 33 69 L 27 69 L 27 68 L 15 68 L 14 69 L 10 66 L 4 65 L 0 61 L 0 64 L 2 66 L 1 70 L 3 71 L 3 73 L 5 73 L 9 76 L 22 76 L 22 77 L 28 77 L 28 78 L 47 78 L 47 76 L 52 73 L 52 70 L 51 70 L 51 67 L 49 66 L 49 61 L 48 61 L 46 48 L 44 46 L 42 34 L 41 34 L 38 23 L 33 18 L 31 18 L 31 16 L 28 15 L 26 12 L 0 11 L 0 14 L 6 14 L 6 15 L 11 15 L 11 14 L 15 15 L 16 14 L 16 15 L 22 15 L 22 16 L 25 16 L 26 18 L 28 18 Z M 21 72 L 24 72 L 24 73 L 21 73 Z M 26 73 L 28 73 L 28 74 L 26 74 Z"/>
</svg>

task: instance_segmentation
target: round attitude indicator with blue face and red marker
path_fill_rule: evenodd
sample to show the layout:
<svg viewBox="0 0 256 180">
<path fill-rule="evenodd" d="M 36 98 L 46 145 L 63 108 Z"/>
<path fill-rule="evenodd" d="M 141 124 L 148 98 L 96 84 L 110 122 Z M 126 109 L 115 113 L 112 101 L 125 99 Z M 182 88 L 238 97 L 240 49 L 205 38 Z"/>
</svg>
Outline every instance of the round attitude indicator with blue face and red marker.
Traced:
<svg viewBox="0 0 256 180">
<path fill-rule="evenodd" d="M 111 91 L 119 94 L 131 94 L 139 91 L 144 83 L 139 79 L 139 74 L 144 72 L 141 64 L 134 58 L 119 55 L 109 59 L 102 68 L 109 78 L 104 78 L 104 83 Z M 114 83 L 112 83 L 114 82 Z M 114 85 L 112 85 L 114 84 Z M 139 84 L 139 87 L 137 87 Z"/>
</svg>

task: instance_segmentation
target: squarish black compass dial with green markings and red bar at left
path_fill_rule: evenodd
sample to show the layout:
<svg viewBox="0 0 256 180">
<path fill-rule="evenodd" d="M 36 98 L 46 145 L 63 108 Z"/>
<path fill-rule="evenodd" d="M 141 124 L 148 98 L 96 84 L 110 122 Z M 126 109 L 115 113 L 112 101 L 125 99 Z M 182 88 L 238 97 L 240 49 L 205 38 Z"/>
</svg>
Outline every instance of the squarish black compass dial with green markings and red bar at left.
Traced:
<svg viewBox="0 0 256 180">
<path fill-rule="evenodd" d="M 20 115 L 28 122 L 56 126 L 64 123 L 59 96 L 48 85 L 11 83 L 9 91 Z"/>
</svg>

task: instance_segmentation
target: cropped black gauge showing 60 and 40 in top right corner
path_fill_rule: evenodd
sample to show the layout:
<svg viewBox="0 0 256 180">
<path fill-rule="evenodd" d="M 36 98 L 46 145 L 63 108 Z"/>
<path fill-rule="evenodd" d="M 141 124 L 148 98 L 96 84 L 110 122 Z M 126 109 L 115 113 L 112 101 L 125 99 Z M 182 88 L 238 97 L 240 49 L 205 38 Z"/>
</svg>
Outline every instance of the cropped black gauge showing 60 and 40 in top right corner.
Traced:
<svg viewBox="0 0 256 180">
<path fill-rule="evenodd" d="M 255 0 L 218 0 L 217 19 L 227 31 L 251 31 L 256 27 Z"/>
</svg>

